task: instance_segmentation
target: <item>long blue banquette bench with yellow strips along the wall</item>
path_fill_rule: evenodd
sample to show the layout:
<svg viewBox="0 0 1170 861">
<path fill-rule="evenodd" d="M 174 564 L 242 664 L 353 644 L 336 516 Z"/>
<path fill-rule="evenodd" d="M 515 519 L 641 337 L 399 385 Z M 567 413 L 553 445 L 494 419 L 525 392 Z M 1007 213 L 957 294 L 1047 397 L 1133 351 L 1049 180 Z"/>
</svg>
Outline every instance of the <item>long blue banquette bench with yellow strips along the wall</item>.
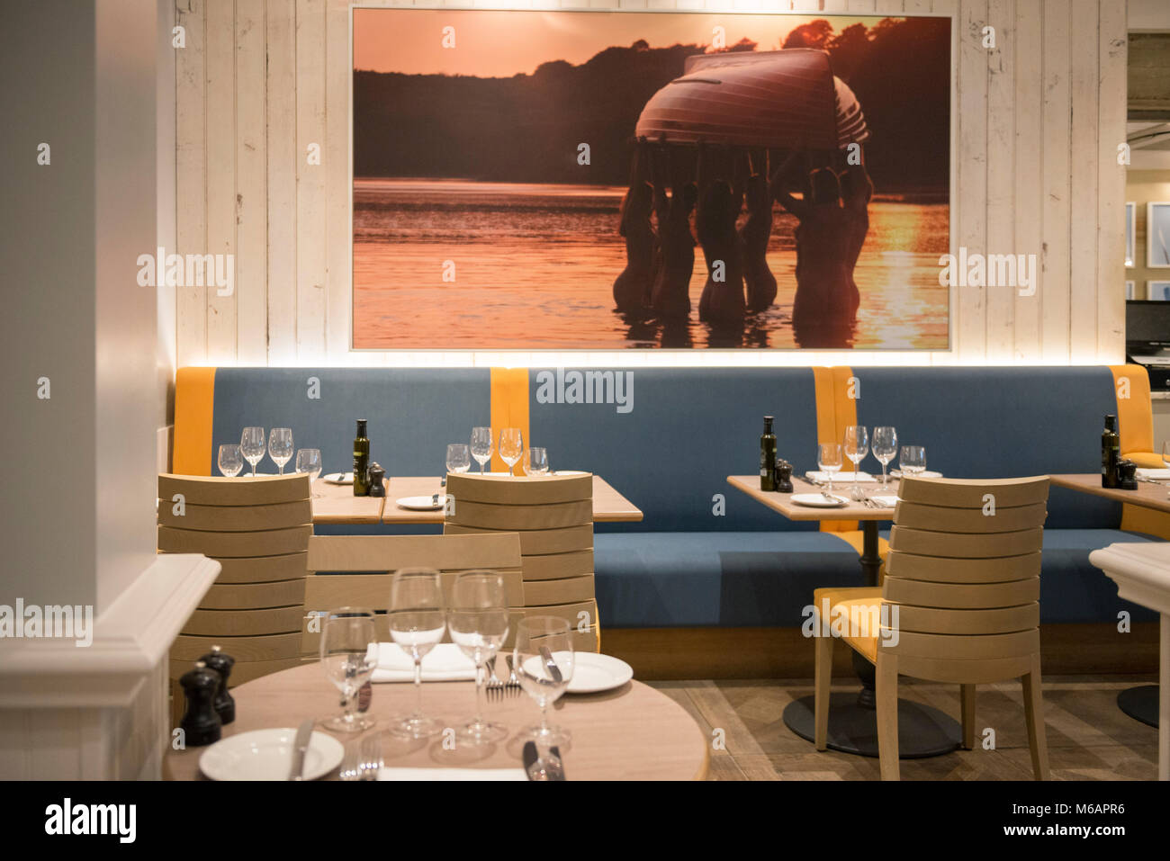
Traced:
<svg viewBox="0 0 1170 861">
<path fill-rule="evenodd" d="M 218 446 L 246 425 L 291 427 L 298 448 L 322 450 L 328 473 L 351 463 L 353 420 L 367 419 L 371 459 L 388 475 L 440 474 L 446 443 L 475 425 L 519 427 L 553 469 L 597 473 L 645 512 L 596 528 L 606 632 L 796 629 L 814 587 L 861 585 L 861 533 L 789 522 L 727 484 L 758 470 L 764 414 L 777 416 L 778 454 L 797 474 L 815 468 L 818 441 L 862 423 L 894 425 L 947 476 L 1000 478 L 1097 471 L 1107 413 L 1119 415 L 1124 456 L 1161 466 L 1148 377 L 1133 365 L 180 368 L 173 471 L 211 474 Z M 1059 488 L 1048 512 L 1042 622 L 1115 625 L 1122 609 L 1152 620 L 1117 598 L 1088 553 L 1170 538 L 1170 518 Z"/>
</svg>

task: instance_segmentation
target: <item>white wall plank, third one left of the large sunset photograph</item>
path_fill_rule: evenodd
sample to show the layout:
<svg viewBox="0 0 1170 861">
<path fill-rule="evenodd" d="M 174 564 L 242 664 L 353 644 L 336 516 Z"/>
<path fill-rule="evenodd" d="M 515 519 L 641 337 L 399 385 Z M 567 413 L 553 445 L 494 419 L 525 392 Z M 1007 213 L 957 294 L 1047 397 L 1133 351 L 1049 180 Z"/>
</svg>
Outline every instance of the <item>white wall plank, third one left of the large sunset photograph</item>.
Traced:
<svg viewBox="0 0 1170 861">
<path fill-rule="evenodd" d="M 296 2 L 268 0 L 264 8 L 267 76 L 268 248 L 267 365 L 296 360 Z"/>
</svg>

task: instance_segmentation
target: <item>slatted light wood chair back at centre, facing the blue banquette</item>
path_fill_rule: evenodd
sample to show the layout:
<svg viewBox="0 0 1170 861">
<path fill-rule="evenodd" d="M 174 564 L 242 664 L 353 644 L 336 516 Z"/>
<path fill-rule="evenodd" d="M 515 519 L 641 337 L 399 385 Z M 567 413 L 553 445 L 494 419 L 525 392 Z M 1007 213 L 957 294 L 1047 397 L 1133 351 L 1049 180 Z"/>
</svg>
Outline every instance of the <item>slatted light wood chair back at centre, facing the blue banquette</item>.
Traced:
<svg viewBox="0 0 1170 861">
<path fill-rule="evenodd" d="M 524 615 L 556 615 L 573 647 L 597 652 L 600 626 L 593 586 L 593 476 L 447 476 L 443 535 L 519 533 Z"/>
</svg>

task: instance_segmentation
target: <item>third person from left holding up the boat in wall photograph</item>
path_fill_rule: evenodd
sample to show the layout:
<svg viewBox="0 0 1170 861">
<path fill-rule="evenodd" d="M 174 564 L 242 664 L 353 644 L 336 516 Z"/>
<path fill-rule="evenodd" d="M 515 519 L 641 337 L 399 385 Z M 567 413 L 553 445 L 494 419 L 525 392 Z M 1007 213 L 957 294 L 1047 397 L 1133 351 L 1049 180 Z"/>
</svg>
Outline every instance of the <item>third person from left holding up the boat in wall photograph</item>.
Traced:
<svg viewBox="0 0 1170 861">
<path fill-rule="evenodd" d="M 717 178 L 711 178 L 710 153 L 698 151 L 698 211 L 695 232 L 707 262 L 707 283 L 698 299 L 698 318 L 704 323 L 743 323 L 746 303 L 743 299 L 743 243 L 736 230 L 736 219 L 743 206 L 731 184 L 724 179 L 730 171 L 728 159 L 721 159 Z"/>
</svg>

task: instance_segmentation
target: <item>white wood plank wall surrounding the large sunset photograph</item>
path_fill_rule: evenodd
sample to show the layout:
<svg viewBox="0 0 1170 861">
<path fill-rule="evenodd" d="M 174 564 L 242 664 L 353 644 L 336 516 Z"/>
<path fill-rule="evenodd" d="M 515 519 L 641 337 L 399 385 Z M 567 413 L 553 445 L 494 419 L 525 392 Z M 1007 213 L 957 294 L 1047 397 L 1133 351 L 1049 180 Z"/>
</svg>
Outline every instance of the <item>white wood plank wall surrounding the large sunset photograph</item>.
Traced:
<svg viewBox="0 0 1170 861">
<path fill-rule="evenodd" d="M 956 289 L 949 352 L 625 351 L 560 358 L 349 351 L 349 5 L 177 2 L 187 41 L 176 61 L 174 250 L 235 255 L 233 295 L 178 288 L 179 366 L 1079 364 L 1123 357 L 1124 292 L 1114 274 L 1123 253 L 1124 167 L 1116 152 L 1126 120 L 1124 4 L 476 0 L 490 8 L 951 14 L 952 244 L 1035 254 L 1039 261 L 1034 296 Z M 985 27 L 994 28 L 993 48 L 984 44 Z M 319 164 L 310 163 L 312 145 Z"/>
</svg>

